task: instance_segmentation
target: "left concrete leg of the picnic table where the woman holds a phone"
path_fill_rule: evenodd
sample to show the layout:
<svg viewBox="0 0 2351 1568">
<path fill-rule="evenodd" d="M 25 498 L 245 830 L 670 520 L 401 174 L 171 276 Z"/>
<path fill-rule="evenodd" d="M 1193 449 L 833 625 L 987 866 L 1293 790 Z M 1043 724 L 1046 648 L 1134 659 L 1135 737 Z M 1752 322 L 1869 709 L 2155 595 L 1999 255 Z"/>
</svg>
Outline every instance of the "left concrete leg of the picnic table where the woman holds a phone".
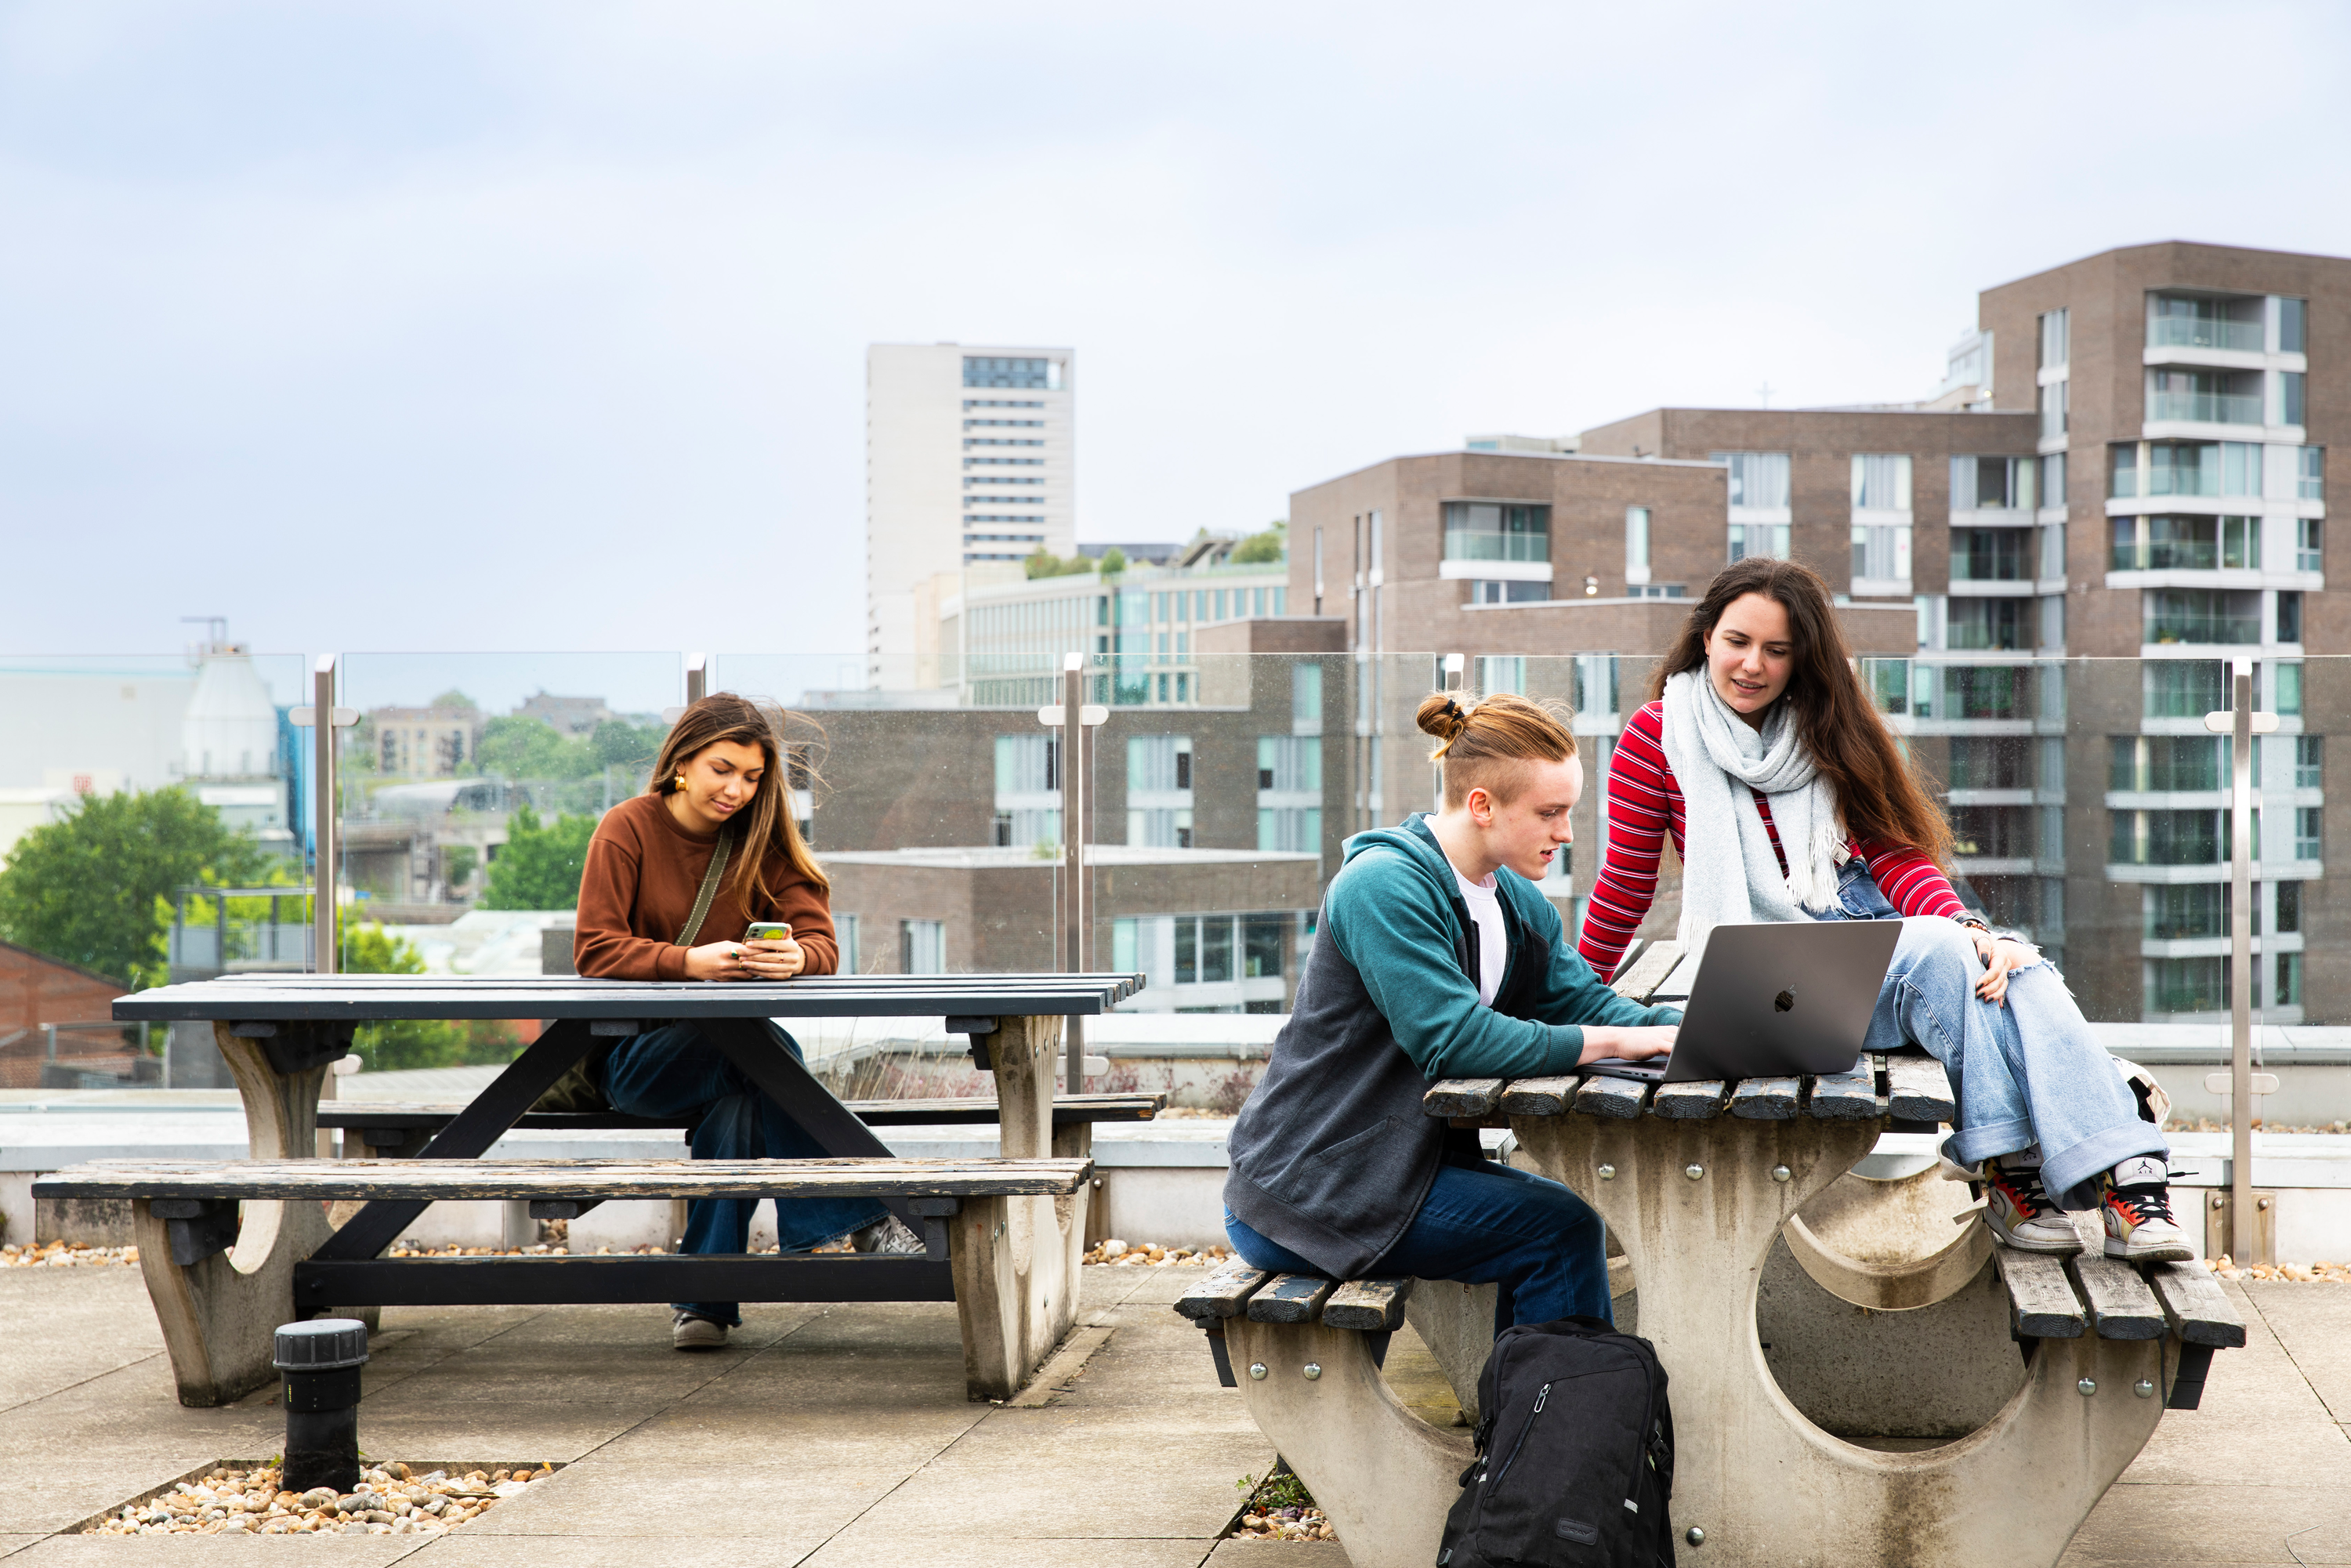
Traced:
<svg viewBox="0 0 2351 1568">
<path fill-rule="evenodd" d="M 259 1041 L 237 1039 L 226 1023 L 214 1037 L 245 1098 L 252 1157 L 315 1159 L 327 1067 L 282 1074 Z M 294 1265 L 334 1234 L 327 1213 L 306 1201 L 245 1204 L 237 1244 L 190 1265 L 172 1262 L 169 1225 L 150 1204 L 136 1204 L 134 1229 L 179 1401 L 221 1406 L 273 1382 L 273 1335 L 294 1319 Z"/>
</svg>

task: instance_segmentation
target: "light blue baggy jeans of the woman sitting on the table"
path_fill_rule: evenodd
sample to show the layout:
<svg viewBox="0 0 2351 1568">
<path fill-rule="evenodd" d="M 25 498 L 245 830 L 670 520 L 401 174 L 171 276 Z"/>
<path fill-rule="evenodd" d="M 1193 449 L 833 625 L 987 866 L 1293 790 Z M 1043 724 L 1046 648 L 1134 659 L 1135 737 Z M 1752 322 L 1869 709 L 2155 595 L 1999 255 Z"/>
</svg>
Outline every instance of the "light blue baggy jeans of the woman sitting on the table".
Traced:
<svg viewBox="0 0 2351 1568">
<path fill-rule="evenodd" d="M 2097 1044 L 2074 992 L 2043 959 L 2008 976 L 2008 1004 L 1984 1001 L 1968 929 L 1940 914 L 1904 919 L 1855 856 L 1838 907 L 1815 919 L 1902 919 L 1869 1051 L 1923 1046 L 1951 1074 L 1958 1119 L 1942 1152 L 1961 1166 L 2041 1145 L 2041 1185 L 2067 1208 L 2095 1208 L 2095 1178 L 2132 1154 L 2170 1157 L 2163 1131 Z"/>
</svg>

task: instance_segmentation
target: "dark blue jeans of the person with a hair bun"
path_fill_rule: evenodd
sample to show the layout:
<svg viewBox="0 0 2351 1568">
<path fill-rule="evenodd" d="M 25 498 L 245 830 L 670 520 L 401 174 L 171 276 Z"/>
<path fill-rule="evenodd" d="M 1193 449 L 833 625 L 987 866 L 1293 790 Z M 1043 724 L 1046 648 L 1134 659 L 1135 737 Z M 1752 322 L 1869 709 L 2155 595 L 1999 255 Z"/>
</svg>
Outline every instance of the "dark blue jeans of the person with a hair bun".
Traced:
<svg viewBox="0 0 2351 1568">
<path fill-rule="evenodd" d="M 1225 1234 L 1253 1269 L 1319 1274 L 1291 1248 L 1267 1241 L 1225 1211 Z M 1608 1232 L 1580 1197 L 1559 1182 L 1491 1161 L 1436 1168 L 1420 1213 L 1366 1276 L 1411 1274 L 1500 1284 L 1493 1331 L 1608 1312 Z"/>
</svg>

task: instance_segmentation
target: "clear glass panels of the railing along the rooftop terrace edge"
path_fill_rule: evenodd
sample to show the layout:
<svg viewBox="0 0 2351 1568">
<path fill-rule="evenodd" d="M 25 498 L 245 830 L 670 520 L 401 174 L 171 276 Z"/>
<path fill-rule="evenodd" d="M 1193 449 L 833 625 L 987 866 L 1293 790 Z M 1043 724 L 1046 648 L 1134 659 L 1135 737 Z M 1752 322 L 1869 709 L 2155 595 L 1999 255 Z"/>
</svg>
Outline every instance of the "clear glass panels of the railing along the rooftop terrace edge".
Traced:
<svg viewBox="0 0 2351 1568">
<path fill-rule="evenodd" d="M 2205 562 L 2193 550 L 2146 559 Z M 2149 618 L 2151 637 L 2257 646 L 2259 618 L 2231 590 L 2158 592 L 2186 597 Z M 2172 1004 L 2210 1001 L 2212 976 L 2193 966 L 2226 947 L 2215 898 L 2229 877 L 2231 771 L 2226 741 L 2203 729 L 2203 715 L 2229 701 L 2222 646 L 2184 658 L 2045 656 L 2012 646 L 2041 630 L 2031 599 L 1977 602 L 1987 609 L 1954 618 L 1944 651 L 1869 658 L 1862 670 L 1947 802 L 1963 846 L 1961 896 L 2052 952 L 2092 1023 L 2203 1020 L 2212 1009 Z M 207 675 L 205 663 L 216 668 Z M 1608 846 L 1608 743 L 1648 701 L 1650 663 L 1650 651 L 1465 661 L 1467 696 L 1509 689 L 1573 710 L 1589 783 L 1573 846 L 1540 889 L 1570 933 Z M 1345 842 L 1425 811 L 1439 785 L 1432 743 L 1413 726 L 1418 701 L 1444 682 L 1434 654 L 1204 656 L 1161 651 L 1157 639 L 1147 651 L 1089 654 L 1086 696 L 1110 717 L 1093 729 L 1084 825 L 1063 820 L 1063 736 L 1037 722 L 1039 705 L 1058 703 L 1058 670 L 990 665 L 959 682 L 950 670 L 922 691 L 868 691 L 860 675 L 856 654 L 759 651 L 712 654 L 703 672 L 710 691 L 769 698 L 790 715 L 783 783 L 832 877 L 844 969 L 1058 969 L 1060 849 L 1081 830 L 1096 896 L 1089 961 L 1150 976 L 1124 1011 L 1152 1013 L 1154 1039 L 1180 1034 L 1197 1060 L 1232 1063 L 1244 1037 L 1262 1051 L 1274 1025 L 1251 1016 L 1291 1006 Z M 193 703 L 205 679 L 226 682 L 235 701 Z M 686 698 L 686 658 L 350 654 L 341 679 L 341 705 L 360 722 L 339 741 L 341 853 L 329 867 L 339 964 L 477 978 L 562 971 L 585 844 L 607 811 L 644 795 Z M 2255 750 L 2262 813 L 2273 820 L 2255 870 L 2262 947 L 2248 985 L 2264 1023 L 2351 1025 L 2351 1004 L 2304 992 L 2302 971 L 2304 952 L 2351 943 L 2351 912 L 2320 896 L 2327 762 L 2351 736 L 2351 658 L 2262 656 L 2257 679 L 2280 731 Z M 94 947 L 66 926 L 21 924 L 24 903 L 9 898 L 0 919 L 19 924 L 0 940 L 52 952 L 59 973 L 125 987 L 315 964 L 313 731 L 289 719 L 308 696 L 308 656 L 0 661 L 0 851 L 14 851 L 0 879 L 54 875 L 42 867 L 66 863 L 52 851 L 71 846 L 94 802 L 146 813 L 139 820 L 155 832 L 193 823 L 202 839 L 200 870 L 153 889 L 150 926 L 125 940 Z M 103 745 L 82 722 L 99 698 L 136 719 Z M 134 870 L 125 863 L 120 875 Z M 228 1093 L 209 1032 L 169 1041 L 155 1030 L 141 1046 L 106 1023 L 110 994 L 99 992 L 106 985 L 82 1011 L 59 1009 L 54 1053 L 40 1030 L 0 1027 L 0 1088 L 96 1077 Z M 369 1072 L 494 1065 L 534 1030 L 534 1020 L 371 1027 L 360 1053 Z M 839 1020 L 795 1034 L 853 1095 L 983 1088 L 936 1020 Z M 1239 1067 L 1211 1081 L 1145 1034 L 1117 1018 L 1089 1030 L 1089 1051 L 1112 1063 L 1096 1086 L 1171 1086 L 1199 1107 L 1246 1093 L 1246 1081 L 1225 1081 Z M 200 1074 L 205 1053 L 212 1077 Z M 2198 1091 L 2201 1072 L 2182 1093 Z"/>
</svg>

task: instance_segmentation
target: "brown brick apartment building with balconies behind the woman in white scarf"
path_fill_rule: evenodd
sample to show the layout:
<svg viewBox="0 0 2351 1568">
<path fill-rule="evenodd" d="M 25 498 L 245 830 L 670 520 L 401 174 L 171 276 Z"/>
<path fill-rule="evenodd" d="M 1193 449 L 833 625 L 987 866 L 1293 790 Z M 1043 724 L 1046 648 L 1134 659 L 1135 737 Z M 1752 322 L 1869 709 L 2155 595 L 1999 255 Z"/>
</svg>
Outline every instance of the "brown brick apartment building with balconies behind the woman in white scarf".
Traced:
<svg viewBox="0 0 2351 1568">
<path fill-rule="evenodd" d="M 1340 616 L 1364 670 L 1354 816 L 1427 795 L 1382 750 L 1420 745 L 1429 654 L 1474 661 L 1479 689 L 1575 701 L 1603 762 L 1672 599 L 1789 555 L 1838 590 L 1949 788 L 1958 870 L 2059 950 L 2092 1018 L 2226 1009 L 2226 743 L 2201 715 L 2229 658 L 2259 661 L 2280 733 L 2259 755 L 2257 1001 L 2271 1023 L 2344 1016 L 2351 976 L 2304 950 L 2351 936 L 2320 882 L 2342 825 L 2316 733 L 2351 682 L 2302 661 L 2351 654 L 2323 597 L 2346 327 L 2351 261 L 2142 244 L 1987 289 L 1918 404 L 1650 409 L 1575 454 L 1392 458 L 1302 489 L 1291 607 Z M 1382 795 L 1385 773 L 1408 783 Z M 1578 839 L 1596 851 L 1589 804 Z"/>
</svg>

